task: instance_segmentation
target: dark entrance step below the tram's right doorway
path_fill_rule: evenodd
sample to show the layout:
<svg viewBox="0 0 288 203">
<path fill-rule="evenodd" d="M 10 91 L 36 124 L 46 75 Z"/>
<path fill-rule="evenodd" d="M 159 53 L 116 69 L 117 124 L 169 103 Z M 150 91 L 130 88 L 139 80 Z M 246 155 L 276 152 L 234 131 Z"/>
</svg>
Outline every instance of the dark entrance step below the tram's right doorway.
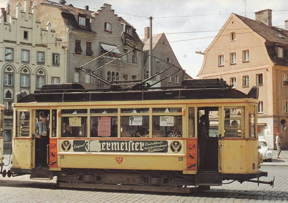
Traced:
<svg viewBox="0 0 288 203">
<path fill-rule="evenodd" d="M 222 174 L 200 172 L 195 175 L 195 184 L 205 185 L 222 185 Z"/>
</svg>

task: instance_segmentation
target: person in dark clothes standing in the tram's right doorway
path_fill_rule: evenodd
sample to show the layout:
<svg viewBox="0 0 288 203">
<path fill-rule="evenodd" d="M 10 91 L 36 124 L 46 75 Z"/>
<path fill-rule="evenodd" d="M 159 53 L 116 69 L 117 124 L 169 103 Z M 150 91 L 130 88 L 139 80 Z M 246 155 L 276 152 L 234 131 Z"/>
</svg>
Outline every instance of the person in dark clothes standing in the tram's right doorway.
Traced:
<svg viewBox="0 0 288 203">
<path fill-rule="evenodd" d="M 201 115 L 200 122 L 198 123 L 198 126 L 197 126 L 197 139 L 198 139 L 198 147 L 199 147 L 199 150 L 198 150 L 199 169 L 203 169 L 204 164 L 205 164 L 206 142 L 208 139 L 207 129 L 205 126 L 205 120 L 206 120 L 205 115 Z"/>
</svg>

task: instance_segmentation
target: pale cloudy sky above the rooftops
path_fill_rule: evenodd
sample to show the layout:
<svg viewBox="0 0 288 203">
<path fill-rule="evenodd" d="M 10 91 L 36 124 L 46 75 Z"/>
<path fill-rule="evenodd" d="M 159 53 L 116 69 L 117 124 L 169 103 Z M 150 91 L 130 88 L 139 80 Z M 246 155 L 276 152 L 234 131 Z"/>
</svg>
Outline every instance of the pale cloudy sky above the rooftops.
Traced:
<svg viewBox="0 0 288 203">
<path fill-rule="evenodd" d="M 0 0 L 6 8 L 8 0 Z M 41 0 L 39 0 L 41 2 Z M 58 2 L 57 0 L 55 2 Z M 112 5 L 115 14 L 136 29 L 140 39 L 152 21 L 152 34 L 165 33 L 181 67 L 193 78 L 201 69 L 204 52 L 232 13 L 255 20 L 254 12 L 271 9 L 272 25 L 284 28 L 288 20 L 287 0 L 66 0 L 67 4 L 99 10 L 104 3 Z"/>
</svg>

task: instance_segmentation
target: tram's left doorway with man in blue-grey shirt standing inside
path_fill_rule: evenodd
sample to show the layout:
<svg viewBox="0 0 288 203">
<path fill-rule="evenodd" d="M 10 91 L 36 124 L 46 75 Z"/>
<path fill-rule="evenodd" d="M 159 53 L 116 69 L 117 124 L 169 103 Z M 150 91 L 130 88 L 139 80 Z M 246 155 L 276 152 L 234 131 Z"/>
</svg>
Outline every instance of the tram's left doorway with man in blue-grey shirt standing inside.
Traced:
<svg viewBox="0 0 288 203">
<path fill-rule="evenodd" d="M 49 168 L 49 120 L 50 110 L 36 110 L 35 112 L 35 130 L 33 131 L 35 139 L 35 148 L 33 148 L 35 156 L 35 168 Z"/>
</svg>

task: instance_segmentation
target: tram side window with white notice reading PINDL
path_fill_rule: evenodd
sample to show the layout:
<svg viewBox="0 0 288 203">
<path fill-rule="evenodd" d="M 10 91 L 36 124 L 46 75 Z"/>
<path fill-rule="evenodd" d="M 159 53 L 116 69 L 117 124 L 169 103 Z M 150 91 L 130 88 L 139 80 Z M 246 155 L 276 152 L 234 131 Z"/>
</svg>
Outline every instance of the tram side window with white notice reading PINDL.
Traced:
<svg viewBox="0 0 288 203">
<path fill-rule="evenodd" d="M 152 137 L 182 137 L 182 115 L 152 116 Z"/>
</svg>

